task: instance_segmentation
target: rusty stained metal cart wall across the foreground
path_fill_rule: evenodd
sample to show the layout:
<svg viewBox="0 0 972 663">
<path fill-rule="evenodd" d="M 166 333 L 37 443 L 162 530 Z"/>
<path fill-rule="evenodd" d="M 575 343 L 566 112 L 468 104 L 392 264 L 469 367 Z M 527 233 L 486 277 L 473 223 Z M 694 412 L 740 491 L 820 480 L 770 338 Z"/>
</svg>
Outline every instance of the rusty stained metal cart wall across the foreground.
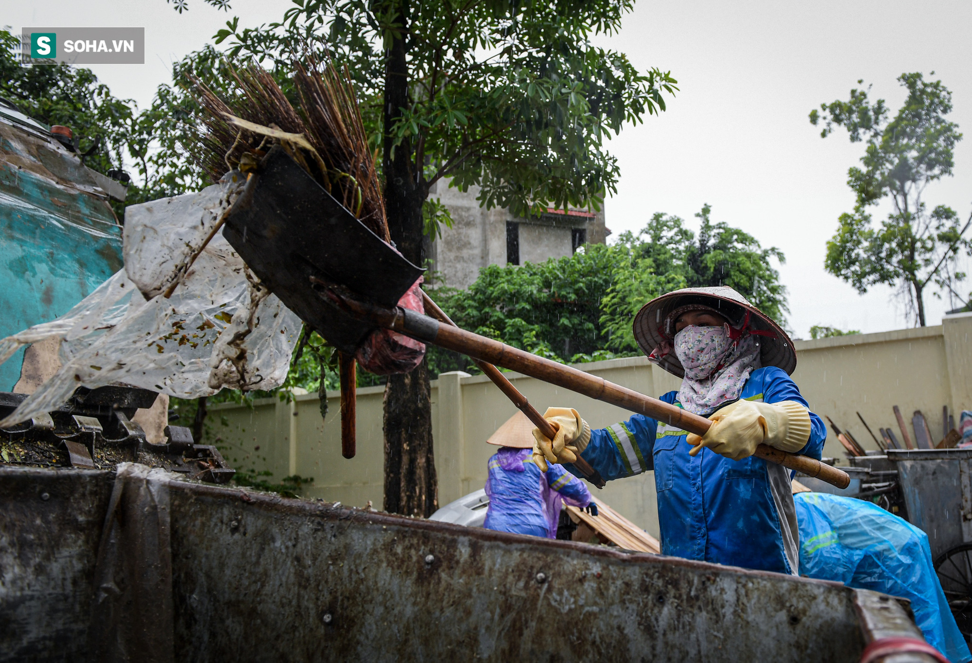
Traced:
<svg viewBox="0 0 972 663">
<path fill-rule="evenodd" d="M 850 663 L 920 639 L 837 583 L 118 475 L 0 468 L 0 659 Z"/>
</svg>

